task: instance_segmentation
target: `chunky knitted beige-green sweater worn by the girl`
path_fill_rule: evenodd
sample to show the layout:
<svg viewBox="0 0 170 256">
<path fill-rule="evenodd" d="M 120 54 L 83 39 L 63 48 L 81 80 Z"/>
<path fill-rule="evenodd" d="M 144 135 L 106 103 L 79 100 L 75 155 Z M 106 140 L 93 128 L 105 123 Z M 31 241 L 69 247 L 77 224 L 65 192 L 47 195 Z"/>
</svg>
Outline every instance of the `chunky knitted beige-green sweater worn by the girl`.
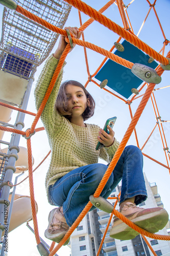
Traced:
<svg viewBox="0 0 170 256">
<path fill-rule="evenodd" d="M 34 92 L 37 110 L 56 70 L 58 61 L 53 55 L 50 56 L 39 76 Z M 55 110 L 54 105 L 62 74 L 63 70 L 57 78 L 55 87 L 41 115 L 51 147 L 51 163 L 45 179 L 46 191 L 48 191 L 48 186 L 54 184 L 58 178 L 72 169 L 98 163 L 99 157 L 109 163 L 119 145 L 115 139 L 112 146 L 103 147 L 96 151 L 100 127 L 88 123 L 86 123 L 86 127 L 78 126 L 69 122 Z"/>
</svg>

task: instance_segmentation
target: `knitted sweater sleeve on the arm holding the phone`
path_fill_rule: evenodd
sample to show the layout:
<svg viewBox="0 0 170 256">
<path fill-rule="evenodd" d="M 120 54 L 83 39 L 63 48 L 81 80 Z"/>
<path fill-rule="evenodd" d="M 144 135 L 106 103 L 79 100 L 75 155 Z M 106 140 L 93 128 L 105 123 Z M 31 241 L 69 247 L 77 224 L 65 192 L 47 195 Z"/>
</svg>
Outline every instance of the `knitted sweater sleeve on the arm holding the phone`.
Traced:
<svg viewBox="0 0 170 256">
<path fill-rule="evenodd" d="M 107 163 L 110 163 L 114 154 L 116 153 L 119 144 L 120 143 L 116 140 L 116 138 L 114 138 L 113 145 L 101 148 L 99 157 L 105 160 Z"/>
</svg>

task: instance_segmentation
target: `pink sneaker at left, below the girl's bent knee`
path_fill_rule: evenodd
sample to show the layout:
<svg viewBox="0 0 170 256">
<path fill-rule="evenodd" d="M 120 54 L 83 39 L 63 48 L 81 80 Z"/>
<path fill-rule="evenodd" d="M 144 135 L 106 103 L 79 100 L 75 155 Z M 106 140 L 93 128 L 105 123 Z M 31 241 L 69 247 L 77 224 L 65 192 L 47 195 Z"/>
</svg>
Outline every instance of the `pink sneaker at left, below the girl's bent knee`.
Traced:
<svg viewBox="0 0 170 256">
<path fill-rule="evenodd" d="M 48 227 L 44 233 L 44 236 L 47 239 L 55 241 L 56 243 L 59 243 L 62 240 L 69 229 L 60 208 L 61 207 L 55 208 L 50 212 L 48 216 Z M 69 240 L 70 238 L 67 239 L 64 245 L 68 244 Z"/>
</svg>

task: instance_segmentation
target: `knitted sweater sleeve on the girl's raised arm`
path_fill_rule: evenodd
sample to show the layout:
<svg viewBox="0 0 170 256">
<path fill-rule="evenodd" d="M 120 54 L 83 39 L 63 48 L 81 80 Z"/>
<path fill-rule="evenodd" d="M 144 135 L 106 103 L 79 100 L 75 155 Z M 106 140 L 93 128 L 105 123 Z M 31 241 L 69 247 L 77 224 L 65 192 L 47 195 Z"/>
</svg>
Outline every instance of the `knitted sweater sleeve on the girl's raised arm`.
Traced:
<svg viewBox="0 0 170 256">
<path fill-rule="evenodd" d="M 36 109 L 38 110 L 41 102 L 45 96 L 45 93 L 47 91 L 47 88 L 51 82 L 51 79 L 53 77 L 53 74 L 57 68 L 59 60 L 56 59 L 53 55 L 51 55 L 45 62 L 45 65 L 43 67 L 43 70 L 41 71 L 41 74 L 38 78 L 34 95 L 35 95 L 35 103 L 36 103 Z M 64 65 L 65 66 L 65 63 Z M 56 123 L 60 122 L 61 116 L 59 113 L 55 110 L 55 102 L 58 95 L 60 83 L 62 80 L 63 75 L 63 68 L 61 69 L 58 78 L 55 82 L 55 86 L 53 88 L 53 91 L 51 92 L 50 97 L 48 98 L 45 108 L 41 114 L 41 120 L 45 126 L 45 129 L 50 127 L 50 130 L 52 131 L 54 125 Z M 48 127 L 47 127 L 48 126 Z M 47 129 L 48 130 L 48 129 Z"/>
</svg>

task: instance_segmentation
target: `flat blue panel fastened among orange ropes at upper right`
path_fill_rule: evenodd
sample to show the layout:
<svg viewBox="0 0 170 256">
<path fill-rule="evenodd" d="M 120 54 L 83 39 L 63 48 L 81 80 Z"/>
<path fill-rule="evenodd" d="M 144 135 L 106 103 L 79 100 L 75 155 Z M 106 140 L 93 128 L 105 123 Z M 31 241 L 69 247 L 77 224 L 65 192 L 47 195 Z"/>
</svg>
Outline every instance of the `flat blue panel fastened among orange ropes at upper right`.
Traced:
<svg viewBox="0 0 170 256">
<path fill-rule="evenodd" d="M 153 69 L 158 66 L 158 63 L 155 60 L 152 63 L 149 63 L 148 60 L 150 56 L 131 45 L 130 42 L 124 40 L 122 45 L 125 50 L 123 52 L 116 50 L 114 52 L 115 55 L 133 63 L 141 63 Z M 107 79 L 107 86 L 127 99 L 132 95 L 131 89 L 137 89 L 143 82 L 140 78 L 135 76 L 130 69 L 119 65 L 111 59 L 105 63 L 98 74 L 95 75 L 95 78 L 101 82 Z"/>
</svg>

